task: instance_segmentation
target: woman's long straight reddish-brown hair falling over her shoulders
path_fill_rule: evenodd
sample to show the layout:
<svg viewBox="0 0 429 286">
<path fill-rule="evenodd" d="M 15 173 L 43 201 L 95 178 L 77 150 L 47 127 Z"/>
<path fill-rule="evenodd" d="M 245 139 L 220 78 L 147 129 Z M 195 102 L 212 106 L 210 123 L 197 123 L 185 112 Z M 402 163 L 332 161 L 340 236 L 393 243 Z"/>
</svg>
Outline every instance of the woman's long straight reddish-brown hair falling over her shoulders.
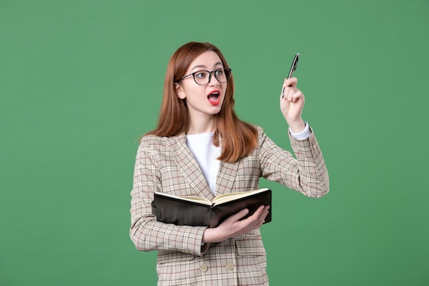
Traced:
<svg viewBox="0 0 429 286">
<path fill-rule="evenodd" d="M 191 42 L 177 49 L 167 66 L 158 126 L 147 134 L 174 136 L 188 131 L 188 108 L 186 102 L 177 96 L 175 82 L 185 75 L 193 60 L 205 51 L 215 51 L 221 58 L 223 67 L 229 68 L 221 51 L 210 43 Z M 258 144 L 258 131 L 254 126 L 238 119 L 234 111 L 234 77 L 232 75 L 227 82 L 221 111 L 215 115 L 215 119 L 216 130 L 213 144 L 222 145 L 219 160 L 236 162 L 252 153 Z"/>
</svg>

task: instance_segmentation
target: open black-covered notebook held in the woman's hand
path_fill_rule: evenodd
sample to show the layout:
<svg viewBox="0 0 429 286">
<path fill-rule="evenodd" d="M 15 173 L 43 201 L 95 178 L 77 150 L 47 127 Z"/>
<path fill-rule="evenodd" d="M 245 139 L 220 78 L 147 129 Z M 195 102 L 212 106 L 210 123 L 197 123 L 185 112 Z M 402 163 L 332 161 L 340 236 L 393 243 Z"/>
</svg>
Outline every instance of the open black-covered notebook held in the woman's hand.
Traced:
<svg viewBox="0 0 429 286">
<path fill-rule="evenodd" d="M 167 193 L 155 193 L 152 213 L 158 222 L 178 226 L 208 226 L 215 228 L 224 219 L 243 210 L 252 215 L 259 206 L 271 206 L 271 189 L 258 189 L 240 193 L 224 193 L 211 202 L 206 198 L 181 197 Z M 265 223 L 271 222 L 271 207 Z"/>
</svg>

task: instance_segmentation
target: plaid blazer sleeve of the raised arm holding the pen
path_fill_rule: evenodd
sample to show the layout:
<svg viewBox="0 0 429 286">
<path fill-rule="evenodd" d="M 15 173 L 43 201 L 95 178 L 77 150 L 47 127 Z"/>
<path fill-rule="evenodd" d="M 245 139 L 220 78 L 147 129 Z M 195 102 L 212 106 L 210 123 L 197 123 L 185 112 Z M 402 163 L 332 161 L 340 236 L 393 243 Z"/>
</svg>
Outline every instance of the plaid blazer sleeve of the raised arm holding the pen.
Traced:
<svg viewBox="0 0 429 286">
<path fill-rule="evenodd" d="M 326 195 L 329 191 L 328 170 L 312 129 L 308 139 L 297 140 L 291 134 L 289 139 L 296 158 L 259 130 L 262 177 L 311 198 Z"/>
</svg>

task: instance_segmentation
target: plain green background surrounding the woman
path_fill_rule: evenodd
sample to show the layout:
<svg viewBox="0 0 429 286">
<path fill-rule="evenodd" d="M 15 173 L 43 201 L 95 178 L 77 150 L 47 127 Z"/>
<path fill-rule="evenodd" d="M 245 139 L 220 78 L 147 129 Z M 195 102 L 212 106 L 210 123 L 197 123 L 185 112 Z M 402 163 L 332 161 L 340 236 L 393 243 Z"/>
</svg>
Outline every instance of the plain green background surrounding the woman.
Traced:
<svg viewBox="0 0 429 286">
<path fill-rule="evenodd" d="M 217 45 L 236 111 L 291 150 L 296 52 L 319 200 L 271 182 L 270 285 L 429 285 L 427 0 L 0 0 L 0 285 L 156 285 L 128 236 L 138 137 L 167 62 Z"/>
</svg>

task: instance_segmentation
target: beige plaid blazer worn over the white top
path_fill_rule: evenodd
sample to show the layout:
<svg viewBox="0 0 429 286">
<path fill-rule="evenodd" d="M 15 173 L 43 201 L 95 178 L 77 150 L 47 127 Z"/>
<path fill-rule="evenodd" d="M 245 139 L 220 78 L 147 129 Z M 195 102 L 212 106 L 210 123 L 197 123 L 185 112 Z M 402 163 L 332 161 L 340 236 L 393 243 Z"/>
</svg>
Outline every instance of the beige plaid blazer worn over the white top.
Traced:
<svg viewBox="0 0 429 286">
<path fill-rule="evenodd" d="M 310 131 L 310 138 L 304 141 L 289 136 L 295 159 L 258 127 L 258 147 L 252 154 L 235 163 L 220 163 L 217 195 L 258 189 L 260 177 L 308 197 L 328 193 L 328 171 Z M 156 221 L 151 213 L 156 191 L 214 198 L 186 145 L 185 134 L 144 136 L 136 156 L 130 237 L 138 250 L 158 250 L 158 285 L 268 285 L 259 230 L 201 246 L 206 227 Z"/>
</svg>

